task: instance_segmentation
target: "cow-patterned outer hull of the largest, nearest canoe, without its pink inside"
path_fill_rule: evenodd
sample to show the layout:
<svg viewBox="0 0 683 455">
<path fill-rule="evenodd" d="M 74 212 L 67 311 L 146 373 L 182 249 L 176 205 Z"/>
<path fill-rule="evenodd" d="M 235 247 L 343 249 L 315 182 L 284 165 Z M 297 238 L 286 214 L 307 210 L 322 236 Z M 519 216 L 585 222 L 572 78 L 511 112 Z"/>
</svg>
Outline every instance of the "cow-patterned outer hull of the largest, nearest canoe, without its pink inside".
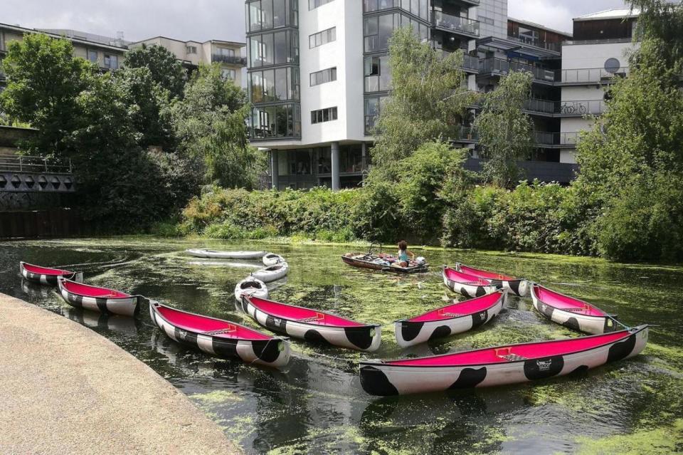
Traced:
<svg viewBox="0 0 683 455">
<path fill-rule="evenodd" d="M 610 337 L 610 335 L 617 334 L 593 335 L 593 337 Z M 576 340 L 581 340 L 581 338 Z M 509 385 L 568 375 L 633 357 L 643 350 L 646 343 L 647 325 L 641 325 L 631 330 L 623 330 L 623 336 L 591 349 L 503 363 L 457 366 L 406 365 L 412 360 L 428 360 L 428 357 L 411 359 L 403 362 L 404 365 L 391 365 L 391 362 L 380 361 L 361 362 L 360 379 L 366 392 L 378 396 Z M 536 343 L 526 343 L 526 345 L 531 344 Z M 524 345 L 511 347 L 515 346 Z M 470 351 L 470 353 L 473 352 L 475 351 Z"/>
</svg>

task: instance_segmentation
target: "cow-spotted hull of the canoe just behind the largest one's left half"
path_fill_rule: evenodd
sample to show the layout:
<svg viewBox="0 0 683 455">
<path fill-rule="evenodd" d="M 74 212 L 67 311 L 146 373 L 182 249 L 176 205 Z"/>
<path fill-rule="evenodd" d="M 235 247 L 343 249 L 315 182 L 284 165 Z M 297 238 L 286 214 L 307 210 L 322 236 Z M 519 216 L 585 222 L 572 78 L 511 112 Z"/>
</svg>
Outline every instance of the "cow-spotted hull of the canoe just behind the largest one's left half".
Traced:
<svg viewBox="0 0 683 455">
<path fill-rule="evenodd" d="M 497 298 L 495 298 L 496 295 Z M 401 347 L 408 347 L 480 327 L 495 318 L 507 302 L 505 290 L 489 294 L 489 296 L 481 298 L 491 300 L 491 303 L 485 308 L 477 308 L 477 311 L 470 314 L 455 315 L 455 317 L 441 320 L 397 320 L 394 328 L 396 342 Z M 470 300 L 462 303 L 467 302 Z"/>
</svg>

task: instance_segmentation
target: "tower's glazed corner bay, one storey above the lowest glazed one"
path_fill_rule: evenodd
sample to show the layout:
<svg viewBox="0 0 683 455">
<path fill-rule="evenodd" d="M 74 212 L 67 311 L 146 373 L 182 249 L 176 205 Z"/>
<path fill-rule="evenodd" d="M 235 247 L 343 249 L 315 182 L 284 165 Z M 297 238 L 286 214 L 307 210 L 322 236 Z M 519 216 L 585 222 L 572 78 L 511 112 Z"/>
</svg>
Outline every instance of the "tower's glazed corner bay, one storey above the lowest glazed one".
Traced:
<svg viewBox="0 0 683 455">
<path fill-rule="evenodd" d="M 249 73 L 249 98 L 252 103 L 299 100 L 299 70 L 275 68 Z"/>
</svg>

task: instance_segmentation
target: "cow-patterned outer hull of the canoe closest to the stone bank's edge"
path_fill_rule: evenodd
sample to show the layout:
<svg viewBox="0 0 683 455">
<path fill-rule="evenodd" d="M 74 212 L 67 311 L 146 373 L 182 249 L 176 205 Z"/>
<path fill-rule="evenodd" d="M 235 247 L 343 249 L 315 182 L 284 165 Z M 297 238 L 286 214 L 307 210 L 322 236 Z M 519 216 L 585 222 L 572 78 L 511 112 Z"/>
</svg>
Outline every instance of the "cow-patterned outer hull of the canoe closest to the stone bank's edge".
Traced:
<svg viewBox="0 0 683 455">
<path fill-rule="evenodd" d="M 149 303 L 149 317 L 171 340 L 201 350 L 213 357 L 238 359 L 245 363 L 257 363 L 268 367 L 285 367 L 290 361 L 290 343 L 281 338 L 264 340 L 239 340 L 184 330 L 166 320 L 157 310 L 158 302 Z M 234 324 L 234 323 L 233 323 Z"/>
</svg>

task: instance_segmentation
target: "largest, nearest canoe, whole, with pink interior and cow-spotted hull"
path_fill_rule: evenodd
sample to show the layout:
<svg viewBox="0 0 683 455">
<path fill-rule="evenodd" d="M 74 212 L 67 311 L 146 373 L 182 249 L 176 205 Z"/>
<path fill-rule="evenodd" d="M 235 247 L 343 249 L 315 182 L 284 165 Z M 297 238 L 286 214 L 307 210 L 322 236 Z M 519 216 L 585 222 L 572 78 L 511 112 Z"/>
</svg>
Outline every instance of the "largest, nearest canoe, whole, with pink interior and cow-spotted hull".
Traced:
<svg viewBox="0 0 683 455">
<path fill-rule="evenodd" d="M 568 375 L 638 355 L 647 325 L 603 335 L 487 347 L 433 357 L 361 362 L 361 385 L 388 396 L 516 384 Z"/>
</svg>

